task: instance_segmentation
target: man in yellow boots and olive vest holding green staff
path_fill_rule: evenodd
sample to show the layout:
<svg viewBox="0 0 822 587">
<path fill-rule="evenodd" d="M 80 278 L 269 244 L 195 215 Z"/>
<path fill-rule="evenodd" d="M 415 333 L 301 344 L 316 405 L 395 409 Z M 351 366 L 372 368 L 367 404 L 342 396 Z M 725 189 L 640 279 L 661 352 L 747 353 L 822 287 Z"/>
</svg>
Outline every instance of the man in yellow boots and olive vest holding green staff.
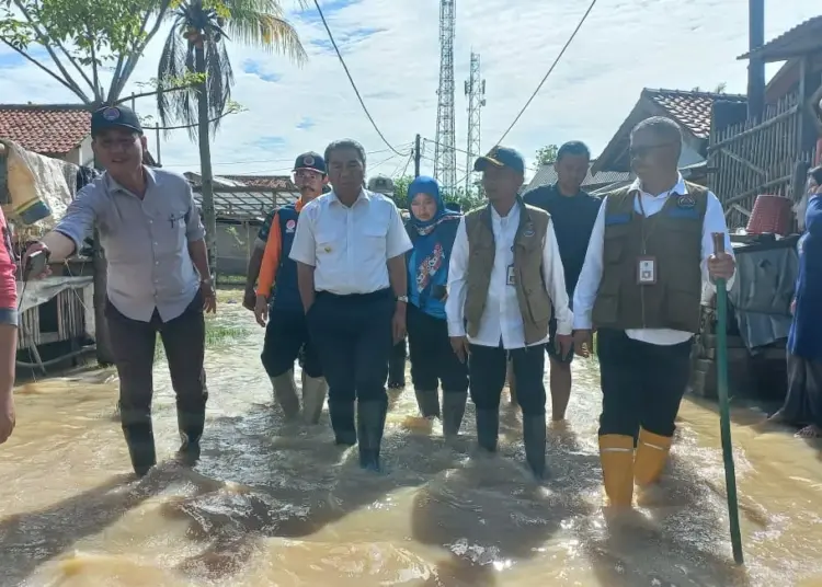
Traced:
<svg viewBox="0 0 822 587">
<path fill-rule="evenodd" d="M 659 480 L 688 383 L 703 283 L 734 274 L 722 206 L 682 179 L 681 152 L 673 120 L 652 117 L 633 128 L 637 181 L 604 199 L 574 290 L 579 355 L 590 354 L 597 329 L 600 456 L 615 507 L 631 506 L 635 481 L 642 488 Z M 715 233 L 722 234 L 717 255 Z"/>
</svg>

